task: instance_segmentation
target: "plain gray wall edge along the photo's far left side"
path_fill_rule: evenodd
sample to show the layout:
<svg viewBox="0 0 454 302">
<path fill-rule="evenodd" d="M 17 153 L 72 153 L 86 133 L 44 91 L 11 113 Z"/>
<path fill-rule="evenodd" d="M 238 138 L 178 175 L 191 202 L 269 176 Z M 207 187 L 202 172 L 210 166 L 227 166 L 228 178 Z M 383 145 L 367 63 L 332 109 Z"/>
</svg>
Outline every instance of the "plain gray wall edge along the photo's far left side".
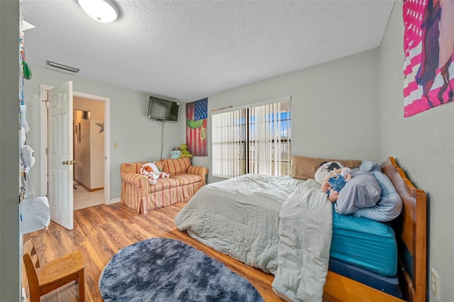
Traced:
<svg viewBox="0 0 454 302">
<path fill-rule="evenodd" d="M 0 1 L 0 37 L 0 301 L 19 301 L 19 1 Z"/>
</svg>

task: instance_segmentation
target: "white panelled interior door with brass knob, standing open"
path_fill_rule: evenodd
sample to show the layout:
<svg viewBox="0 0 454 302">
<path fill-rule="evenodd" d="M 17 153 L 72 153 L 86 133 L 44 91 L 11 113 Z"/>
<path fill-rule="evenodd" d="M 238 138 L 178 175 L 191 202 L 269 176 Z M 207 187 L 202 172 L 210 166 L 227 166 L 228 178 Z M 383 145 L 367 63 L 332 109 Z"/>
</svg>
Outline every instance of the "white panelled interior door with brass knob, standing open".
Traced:
<svg viewBox="0 0 454 302">
<path fill-rule="evenodd" d="M 73 228 L 72 82 L 50 89 L 48 97 L 48 181 L 50 219 Z"/>
</svg>

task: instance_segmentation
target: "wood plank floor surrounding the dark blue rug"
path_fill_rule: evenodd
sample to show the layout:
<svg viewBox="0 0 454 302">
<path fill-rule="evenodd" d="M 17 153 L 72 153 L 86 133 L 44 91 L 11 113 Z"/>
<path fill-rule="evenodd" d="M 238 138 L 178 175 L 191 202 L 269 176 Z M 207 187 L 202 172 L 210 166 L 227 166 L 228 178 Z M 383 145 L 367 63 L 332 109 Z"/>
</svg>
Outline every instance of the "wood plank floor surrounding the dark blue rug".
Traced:
<svg viewBox="0 0 454 302">
<path fill-rule="evenodd" d="M 74 229 L 67 230 L 51 222 L 48 230 L 40 230 L 24 235 L 32 237 L 40 255 L 40 262 L 45 263 L 74 250 L 80 250 L 87 263 L 85 269 L 85 301 L 103 301 L 99 293 L 98 282 L 104 266 L 111 257 L 123 247 L 151 237 L 167 237 L 186 242 L 207 255 L 226 264 L 233 272 L 248 279 L 265 301 L 282 301 L 272 291 L 272 274 L 232 259 L 212 250 L 206 245 L 180 232 L 175 227 L 174 219 L 184 203 L 160 208 L 147 214 L 136 214 L 135 210 L 115 203 L 110 206 L 100 205 L 74 211 Z M 24 287 L 28 298 L 26 275 Z M 77 285 L 72 283 L 57 291 L 46 294 L 41 301 L 77 301 Z"/>
</svg>

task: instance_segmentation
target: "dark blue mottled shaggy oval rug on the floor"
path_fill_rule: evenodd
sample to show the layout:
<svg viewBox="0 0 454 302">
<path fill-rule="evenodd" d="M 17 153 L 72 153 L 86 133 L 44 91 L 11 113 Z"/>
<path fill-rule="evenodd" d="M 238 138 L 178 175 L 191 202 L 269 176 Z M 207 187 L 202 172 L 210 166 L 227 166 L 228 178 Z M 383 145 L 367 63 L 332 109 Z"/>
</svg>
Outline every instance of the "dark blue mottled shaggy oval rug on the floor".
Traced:
<svg viewBox="0 0 454 302">
<path fill-rule="evenodd" d="M 179 240 L 151 238 L 118 251 L 99 278 L 104 301 L 263 301 L 223 263 Z"/>
</svg>

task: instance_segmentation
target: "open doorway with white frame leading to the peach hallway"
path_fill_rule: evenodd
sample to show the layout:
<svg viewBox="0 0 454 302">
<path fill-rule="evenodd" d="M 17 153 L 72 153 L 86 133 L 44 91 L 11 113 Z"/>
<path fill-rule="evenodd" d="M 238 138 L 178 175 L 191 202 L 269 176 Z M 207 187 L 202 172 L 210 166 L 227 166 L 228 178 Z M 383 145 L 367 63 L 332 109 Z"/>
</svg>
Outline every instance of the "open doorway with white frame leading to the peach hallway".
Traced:
<svg viewBox="0 0 454 302">
<path fill-rule="evenodd" d="M 40 194 L 48 195 L 48 91 L 41 85 Z M 73 210 L 110 204 L 110 99 L 73 91 Z M 78 132 L 78 133 L 76 133 Z M 82 149 L 81 149 L 82 147 Z"/>
</svg>

